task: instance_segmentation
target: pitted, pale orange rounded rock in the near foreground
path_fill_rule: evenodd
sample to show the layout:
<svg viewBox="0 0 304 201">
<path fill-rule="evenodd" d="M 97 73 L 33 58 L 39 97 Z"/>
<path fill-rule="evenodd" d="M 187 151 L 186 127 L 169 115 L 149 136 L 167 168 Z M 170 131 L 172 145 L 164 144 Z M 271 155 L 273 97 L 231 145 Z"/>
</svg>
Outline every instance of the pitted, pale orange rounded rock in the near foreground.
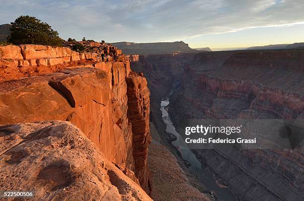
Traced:
<svg viewBox="0 0 304 201">
<path fill-rule="evenodd" d="M 34 200 L 151 200 L 70 122 L 0 126 L 0 169 L 1 190 Z"/>
</svg>

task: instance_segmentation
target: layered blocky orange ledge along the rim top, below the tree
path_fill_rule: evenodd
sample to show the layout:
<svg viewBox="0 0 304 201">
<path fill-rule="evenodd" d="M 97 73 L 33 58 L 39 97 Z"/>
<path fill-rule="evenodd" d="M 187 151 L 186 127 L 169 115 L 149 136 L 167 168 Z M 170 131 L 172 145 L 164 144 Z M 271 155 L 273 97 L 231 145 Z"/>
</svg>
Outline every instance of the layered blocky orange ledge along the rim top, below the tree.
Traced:
<svg viewBox="0 0 304 201">
<path fill-rule="evenodd" d="M 70 48 L 73 45 L 70 43 L 64 44 L 66 47 L 43 45 L 0 46 L 0 81 L 55 72 L 61 68 L 75 65 L 102 62 L 103 49 L 111 51 L 111 56 L 105 54 L 104 62 L 129 63 L 121 50 L 117 50 L 110 44 L 84 41 L 78 43 L 84 45 L 85 50 L 90 52 L 78 53 L 72 51 Z M 92 51 L 94 48 L 97 48 L 97 50 Z"/>
</svg>

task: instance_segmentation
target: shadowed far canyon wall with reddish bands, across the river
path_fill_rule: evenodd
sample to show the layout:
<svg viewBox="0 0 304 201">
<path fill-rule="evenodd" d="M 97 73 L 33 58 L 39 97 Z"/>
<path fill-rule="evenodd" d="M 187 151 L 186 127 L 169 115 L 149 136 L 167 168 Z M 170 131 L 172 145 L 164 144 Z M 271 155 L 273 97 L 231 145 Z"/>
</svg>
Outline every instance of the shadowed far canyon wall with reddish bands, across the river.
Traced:
<svg viewBox="0 0 304 201">
<path fill-rule="evenodd" d="M 144 72 L 155 96 L 152 113 L 172 90 L 168 112 L 175 124 L 178 119 L 303 119 L 303 58 L 301 50 L 154 55 L 136 70 Z M 303 149 L 192 151 L 240 200 L 304 199 Z"/>
</svg>

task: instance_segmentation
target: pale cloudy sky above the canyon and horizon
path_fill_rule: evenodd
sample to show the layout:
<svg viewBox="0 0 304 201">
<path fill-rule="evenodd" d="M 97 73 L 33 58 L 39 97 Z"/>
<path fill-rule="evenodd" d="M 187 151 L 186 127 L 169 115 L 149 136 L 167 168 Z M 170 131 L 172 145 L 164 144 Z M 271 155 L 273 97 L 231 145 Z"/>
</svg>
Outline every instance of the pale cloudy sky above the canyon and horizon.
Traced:
<svg viewBox="0 0 304 201">
<path fill-rule="evenodd" d="M 304 42 L 304 0 L 1 0 L 0 24 L 36 16 L 69 37 L 192 48 Z"/>
</svg>

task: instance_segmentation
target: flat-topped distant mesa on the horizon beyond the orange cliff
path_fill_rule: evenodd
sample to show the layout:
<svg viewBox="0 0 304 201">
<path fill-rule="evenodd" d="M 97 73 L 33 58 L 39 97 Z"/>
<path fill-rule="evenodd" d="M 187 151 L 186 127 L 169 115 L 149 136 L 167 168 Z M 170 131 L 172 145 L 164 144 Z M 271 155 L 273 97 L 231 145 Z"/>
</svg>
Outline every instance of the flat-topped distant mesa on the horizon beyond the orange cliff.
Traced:
<svg viewBox="0 0 304 201">
<path fill-rule="evenodd" d="M 199 50 L 192 49 L 183 41 L 177 42 L 159 42 L 159 43 L 132 43 L 118 42 L 112 45 L 121 49 L 127 55 L 149 55 L 149 54 L 167 54 L 167 53 L 196 53 Z"/>
</svg>

